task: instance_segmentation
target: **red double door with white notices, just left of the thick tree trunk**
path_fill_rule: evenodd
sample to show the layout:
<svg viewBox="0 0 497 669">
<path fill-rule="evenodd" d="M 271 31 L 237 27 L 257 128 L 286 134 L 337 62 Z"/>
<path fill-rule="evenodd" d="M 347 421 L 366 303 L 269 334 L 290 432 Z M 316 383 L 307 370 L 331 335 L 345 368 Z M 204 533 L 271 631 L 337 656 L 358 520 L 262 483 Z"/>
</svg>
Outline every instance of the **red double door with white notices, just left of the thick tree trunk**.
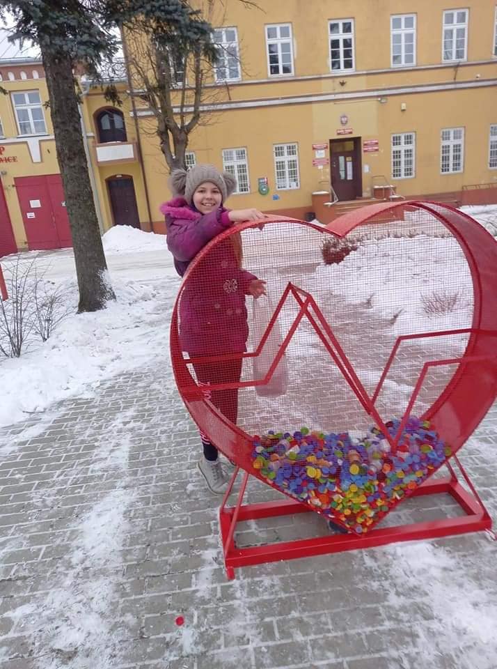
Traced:
<svg viewBox="0 0 497 669">
<path fill-rule="evenodd" d="M 23 176 L 14 182 L 29 249 L 72 246 L 61 177 Z"/>
</svg>

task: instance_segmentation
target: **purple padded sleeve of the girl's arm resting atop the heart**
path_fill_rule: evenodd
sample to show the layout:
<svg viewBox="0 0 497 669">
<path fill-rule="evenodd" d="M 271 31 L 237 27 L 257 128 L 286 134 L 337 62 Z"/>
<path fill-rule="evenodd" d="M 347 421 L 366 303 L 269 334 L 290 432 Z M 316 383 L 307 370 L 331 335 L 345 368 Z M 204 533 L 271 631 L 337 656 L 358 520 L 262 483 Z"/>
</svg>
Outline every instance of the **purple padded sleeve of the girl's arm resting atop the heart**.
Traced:
<svg viewBox="0 0 497 669">
<path fill-rule="evenodd" d="M 175 259 L 191 261 L 220 232 L 231 225 L 228 212 L 220 209 L 197 220 L 173 219 L 167 226 L 167 246 Z"/>
</svg>

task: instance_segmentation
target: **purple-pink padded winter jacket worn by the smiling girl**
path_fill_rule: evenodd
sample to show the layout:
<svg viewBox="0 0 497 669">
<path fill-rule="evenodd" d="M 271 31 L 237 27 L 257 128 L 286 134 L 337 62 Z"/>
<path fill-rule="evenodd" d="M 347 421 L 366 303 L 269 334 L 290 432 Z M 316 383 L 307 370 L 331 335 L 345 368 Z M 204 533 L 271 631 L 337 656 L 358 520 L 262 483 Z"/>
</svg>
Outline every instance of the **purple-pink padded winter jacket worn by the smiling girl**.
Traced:
<svg viewBox="0 0 497 669">
<path fill-rule="evenodd" d="M 166 216 L 167 245 L 175 268 L 184 275 L 196 254 L 232 225 L 228 210 L 208 214 L 177 197 L 161 205 Z M 184 286 L 180 301 L 180 341 L 190 355 L 220 355 L 246 350 L 245 295 L 256 277 L 239 267 L 231 240 L 223 240 L 199 263 Z"/>
</svg>

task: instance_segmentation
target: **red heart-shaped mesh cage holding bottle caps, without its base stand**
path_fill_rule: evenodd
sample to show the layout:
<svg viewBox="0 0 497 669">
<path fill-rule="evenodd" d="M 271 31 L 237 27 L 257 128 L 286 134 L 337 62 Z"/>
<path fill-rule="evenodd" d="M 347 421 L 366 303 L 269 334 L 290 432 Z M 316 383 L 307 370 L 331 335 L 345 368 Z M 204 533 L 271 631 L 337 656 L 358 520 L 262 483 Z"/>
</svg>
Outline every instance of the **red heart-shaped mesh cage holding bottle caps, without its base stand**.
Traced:
<svg viewBox="0 0 497 669">
<path fill-rule="evenodd" d="M 253 304 L 255 277 L 268 297 Z M 180 287 L 178 389 L 232 461 L 367 531 L 493 403 L 496 293 L 496 240 L 439 203 L 233 226 Z"/>
</svg>

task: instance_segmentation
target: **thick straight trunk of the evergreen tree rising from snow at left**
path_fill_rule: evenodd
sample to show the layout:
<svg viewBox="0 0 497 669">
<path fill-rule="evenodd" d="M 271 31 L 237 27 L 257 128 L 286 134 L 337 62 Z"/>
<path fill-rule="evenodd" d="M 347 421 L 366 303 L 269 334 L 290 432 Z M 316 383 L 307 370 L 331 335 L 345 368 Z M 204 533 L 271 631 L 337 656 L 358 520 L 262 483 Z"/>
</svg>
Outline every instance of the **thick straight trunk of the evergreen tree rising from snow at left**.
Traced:
<svg viewBox="0 0 497 669">
<path fill-rule="evenodd" d="M 84 151 L 78 101 L 69 56 L 53 56 L 40 43 L 47 77 L 50 115 L 54 125 L 58 165 L 74 247 L 79 288 L 78 312 L 95 312 L 116 299 L 98 227 L 97 213 Z"/>
</svg>

